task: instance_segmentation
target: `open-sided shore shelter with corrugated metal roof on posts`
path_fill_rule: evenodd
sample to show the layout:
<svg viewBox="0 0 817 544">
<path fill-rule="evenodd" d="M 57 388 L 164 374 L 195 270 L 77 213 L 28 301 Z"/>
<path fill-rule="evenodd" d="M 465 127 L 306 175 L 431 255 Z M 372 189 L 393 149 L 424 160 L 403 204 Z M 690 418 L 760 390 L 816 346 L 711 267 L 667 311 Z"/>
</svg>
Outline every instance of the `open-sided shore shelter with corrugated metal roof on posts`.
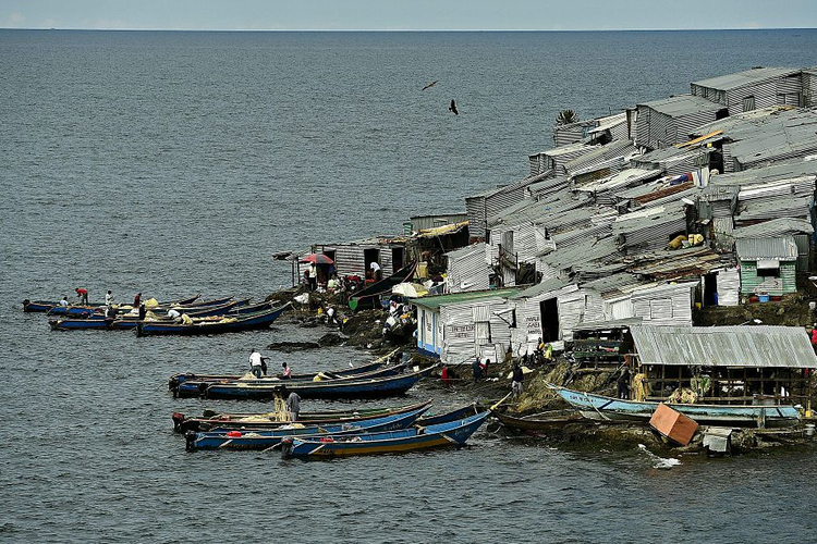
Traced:
<svg viewBox="0 0 817 544">
<path fill-rule="evenodd" d="M 805 404 L 810 394 L 804 370 L 817 368 L 817 357 L 803 327 L 632 325 L 630 332 L 649 400 L 679 387 L 700 404 Z"/>
</svg>

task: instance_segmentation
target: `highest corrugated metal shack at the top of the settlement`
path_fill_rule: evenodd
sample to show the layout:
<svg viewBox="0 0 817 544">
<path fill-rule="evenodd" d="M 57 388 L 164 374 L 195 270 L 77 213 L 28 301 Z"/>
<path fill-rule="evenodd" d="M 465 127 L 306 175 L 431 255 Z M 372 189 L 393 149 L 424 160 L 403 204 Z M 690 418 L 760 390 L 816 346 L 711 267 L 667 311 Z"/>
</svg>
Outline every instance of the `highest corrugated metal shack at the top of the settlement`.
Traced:
<svg viewBox="0 0 817 544">
<path fill-rule="evenodd" d="M 725 106 L 730 115 L 775 104 L 803 106 L 801 71 L 755 67 L 691 84 L 692 94 Z"/>
</svg>

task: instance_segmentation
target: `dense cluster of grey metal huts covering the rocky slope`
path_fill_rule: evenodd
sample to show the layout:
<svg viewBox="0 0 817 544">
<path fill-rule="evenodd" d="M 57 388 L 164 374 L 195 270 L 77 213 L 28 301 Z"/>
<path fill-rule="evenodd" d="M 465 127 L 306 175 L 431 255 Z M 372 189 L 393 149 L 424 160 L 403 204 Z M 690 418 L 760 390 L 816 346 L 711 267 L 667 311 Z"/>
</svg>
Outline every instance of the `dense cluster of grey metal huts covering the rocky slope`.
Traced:
<svg viewBox="0 0 817 544">
<path fill-rule="evenodd" d="M 588 324 L 690 327 L 695 308 L 793 293 L 809 270 L 817 69 L 694 82 L 556 126 L 553 141 L 526 177 L 467 197 L 464 217 L 314 250 L 344 273 L 444 268 L 446 294 L 414 305 L 418 350 L 449 363 L 560 348 Z"/>
</svg>

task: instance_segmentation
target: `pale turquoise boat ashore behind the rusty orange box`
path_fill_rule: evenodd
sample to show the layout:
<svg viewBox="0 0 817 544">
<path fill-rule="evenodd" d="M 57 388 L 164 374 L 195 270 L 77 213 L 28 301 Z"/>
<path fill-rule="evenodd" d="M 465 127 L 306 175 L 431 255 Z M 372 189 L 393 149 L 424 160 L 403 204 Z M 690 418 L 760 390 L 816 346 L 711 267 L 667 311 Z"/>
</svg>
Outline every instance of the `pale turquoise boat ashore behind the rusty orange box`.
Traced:
<svg viewBox="0 0 817 544">
<path fill-rule="evenodd" d="M 597 421 L 649 421 L 660 403 L 625 400 L 548 384 L 587 419 Z M 672 409 L 704 425 L 786 426 L 800 421 L 791 405 L 673 404 Z"/>
</svg>

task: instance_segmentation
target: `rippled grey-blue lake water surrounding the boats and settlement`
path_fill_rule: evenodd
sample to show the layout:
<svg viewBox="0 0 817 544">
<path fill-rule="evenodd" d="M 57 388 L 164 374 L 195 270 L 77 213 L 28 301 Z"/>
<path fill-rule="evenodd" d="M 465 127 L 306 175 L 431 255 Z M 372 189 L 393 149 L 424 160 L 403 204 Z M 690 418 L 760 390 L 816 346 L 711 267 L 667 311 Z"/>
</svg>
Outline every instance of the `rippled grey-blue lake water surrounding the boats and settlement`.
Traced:
<svg viewBox="0 0 817 544">
<path fill-rule="evenodd" d="M 170 413 L 215 403 L 174 401 L 170 373 L 242 369 L 252 347 L 325 331 L 51 333 L 19 302 L 81 284 L 95 299 L 261 297 L 289 281 L 272 252 L 395 233 L 411 214 L 462 210 L 466 195 L 524 176 L 559 110 L 586 119 L 753 65 L 814 65 L 816 39 L 0 30 L 0 540 L 814 540 L 814 453 L 664 471 L 638 450 L 483 430 L 459 452 L 388 458 L 186 454 Z M 468 400 L 411 394 L 429 396 Z"/>
</svg>

